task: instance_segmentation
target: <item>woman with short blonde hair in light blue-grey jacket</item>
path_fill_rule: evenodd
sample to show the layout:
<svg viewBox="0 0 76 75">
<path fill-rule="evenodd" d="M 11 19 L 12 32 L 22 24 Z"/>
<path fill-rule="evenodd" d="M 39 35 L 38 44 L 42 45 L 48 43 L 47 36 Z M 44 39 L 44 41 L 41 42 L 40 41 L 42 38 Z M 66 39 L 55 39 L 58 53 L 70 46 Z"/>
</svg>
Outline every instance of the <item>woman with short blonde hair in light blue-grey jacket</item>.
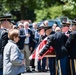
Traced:
<svg viewBox="0 0 76 75">
<path fill-rule="evenodd" d="M 3 54 L 3 75 L 21 75 L 24 69 L 24 55 L 16 43 L 19 41 L 19 30 L 12 29 L 8 32 L 8 43 Z"/>
</svg>

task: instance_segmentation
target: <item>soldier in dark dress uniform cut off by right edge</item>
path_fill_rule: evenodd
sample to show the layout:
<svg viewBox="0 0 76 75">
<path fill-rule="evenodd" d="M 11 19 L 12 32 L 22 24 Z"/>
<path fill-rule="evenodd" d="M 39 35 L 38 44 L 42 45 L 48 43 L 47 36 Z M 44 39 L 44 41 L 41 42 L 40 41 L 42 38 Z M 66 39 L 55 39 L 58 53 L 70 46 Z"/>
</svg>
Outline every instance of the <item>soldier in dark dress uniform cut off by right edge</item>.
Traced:
<svg viewBox="0 0 76 75">
<path fill-rule="evenodd" d="M 71 75 L 76 75 L 76 20 L 72 23 L 72 32 L 65 44 L 70 56 Z"/>
</svg>

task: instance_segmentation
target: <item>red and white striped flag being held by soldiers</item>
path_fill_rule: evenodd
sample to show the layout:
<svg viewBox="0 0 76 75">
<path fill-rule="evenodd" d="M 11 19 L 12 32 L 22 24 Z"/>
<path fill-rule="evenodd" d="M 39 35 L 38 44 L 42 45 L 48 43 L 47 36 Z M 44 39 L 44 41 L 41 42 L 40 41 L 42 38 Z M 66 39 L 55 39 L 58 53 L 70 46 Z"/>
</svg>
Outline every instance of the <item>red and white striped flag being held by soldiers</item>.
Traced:
<svg viewBox="0 0 76 75">
<path fill-rule="evenodd" d="M 37 48 L 34 50 L 34 52 L 30 55 L 29 59 L 30 60 L 31 59 L 41 60 L 46 55 L 46 53 L 54 51 L 53 47 L 50 46 L 50 48 L 41 57 L 39 57 L 39 53 L 45 47 L 46 43 L 47 43 L 47 37 L 37 46 Z"/>
</svg>

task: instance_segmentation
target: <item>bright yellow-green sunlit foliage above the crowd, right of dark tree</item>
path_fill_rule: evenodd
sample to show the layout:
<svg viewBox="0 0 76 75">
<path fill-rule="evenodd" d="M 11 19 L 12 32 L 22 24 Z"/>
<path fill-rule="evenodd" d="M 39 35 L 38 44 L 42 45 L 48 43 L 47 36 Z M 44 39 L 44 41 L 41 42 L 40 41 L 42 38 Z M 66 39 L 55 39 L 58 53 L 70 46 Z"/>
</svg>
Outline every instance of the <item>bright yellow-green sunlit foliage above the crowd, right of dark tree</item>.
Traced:
<svg viewBox="0 0 76 75">
<path fill-rule="evenodd" d="M 54 19 L 58 16 L 62 16 L 62 6 L 53 6 L 49 8 L 44 8 L 42 10 L 35 10 L 36 20 L 46 20 L 46 19 Z"/>
</svg>

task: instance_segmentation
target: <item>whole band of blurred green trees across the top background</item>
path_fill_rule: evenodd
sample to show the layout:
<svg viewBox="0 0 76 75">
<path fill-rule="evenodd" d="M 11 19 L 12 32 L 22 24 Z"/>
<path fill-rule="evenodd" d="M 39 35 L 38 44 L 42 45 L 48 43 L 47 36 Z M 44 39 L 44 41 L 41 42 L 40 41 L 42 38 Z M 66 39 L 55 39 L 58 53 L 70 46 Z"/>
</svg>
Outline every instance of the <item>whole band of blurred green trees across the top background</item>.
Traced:
<svg viewBox="0 0 76 75">
<path fill-rule="evenodd" d="M 41 21 L 76 16 L 76 0 L 0 0 L 0 15 L 11 14 L 15 21 Z"/>
</svg>

